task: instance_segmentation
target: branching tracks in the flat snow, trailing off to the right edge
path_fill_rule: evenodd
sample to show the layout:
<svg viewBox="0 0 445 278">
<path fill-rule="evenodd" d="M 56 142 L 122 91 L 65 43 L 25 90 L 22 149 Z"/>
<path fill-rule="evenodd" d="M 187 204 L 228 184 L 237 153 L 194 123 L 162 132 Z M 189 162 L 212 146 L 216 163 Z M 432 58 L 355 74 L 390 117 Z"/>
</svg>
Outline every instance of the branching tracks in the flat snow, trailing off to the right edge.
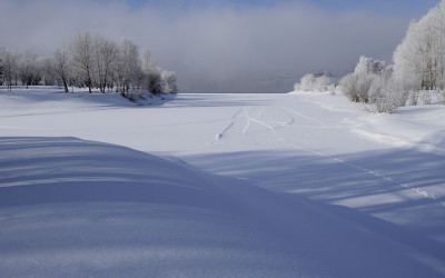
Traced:
<svg viewBox="0 0 445 278">
<path fill-rule="evenodd" d="M 285 112 L 288 117 L 291 118 L 290 123 L 285 123 L 284 125 L 283 122 L 265 121 L 265 120 L 258 119 L 260 116 L 263 116 L 264 109 L 260 110 L 260 112 L 257 115 L 257 117 L 253 116 L 253 113 L 258 108 L 251 108 L 250 110 L 248 110 L 246 107 L 244 109 L 240 109 L 238 112 L 236 112 L 234 115 L 231 123 L 219 133 L 220 136 L 218 138 L 222 138 L 222 135 L 226 133 L 235 125 L 236 119 L 238 118 L 239 115 L 241 115 L 244 118 L 247 118 L 247 122 L 246 122 L 246 125 L 245 125 L 245 127 L 243 129 L 241 136 L 246 136 L 246 133 L 247 133 L 247 131 L 248 131 L 248 129 L 250 127 L 250 122 L 255 122 L 255 123 L 257 123 L 259 126 L 265 127 L 270 132 L 273 132 L 274 137 L 279 142 L 281 142 L 284 145 L 287 145 L 287 146 L 291 147 L 293 149 L 298 149 L 298 150 L 301 150 L 301 151 L 305 151 L 305 152 L 309 152 L 312 155 L 315 155 L 315 156 L 318 156 L 318 157 L 322 157 L 322 158 L 325 158 L 325 159 L 329 159 L 329 160 L 335 161 L 337 163 L 345 165 L 345 166 L 349 167 L 350 169 L 354 169 L 354 170 L 364 172 L 366 175 L 370 175 L 370 176 L 373 176 L 375 178 L 382 179 L 388 185 L 396 185 L 398 187 L 405 188 L 406 190 L 409 190 L 411 192 L 413 192 L 413 193 L 415 193 L 417 196 L 421 196 L 423 198 L 426 198 L 426 199 L 428 199 L 428 200 L 431 200 L 431 201 L 433 201 L 435 203 L 438 203 L 439 206 L 445 208 L 445 200 L 444 200 L 443 197 L 437 197 L 435 193 L 428 192 L 425 189 L 409 186 L 409 183 L 403 182 L 403 181 L 399 181 L 399 180 L 395 180 L 390 176 L 385 175 L 383 172 L 379 172 L 379 171 L 376 171 L 376 170 L 372 170 L 372 169 L 367 169 L 365 167 L 348 162 L 348 161 L 339 159 L 337 157 L 334 157 L 334 156 L 330 156 L 330 155 L 327 155 L 327 153 L 324 153 L 324 152 L 320 152 L 320 151 L 316 151 L 316 150 L 309 149 L 309 148 L 307 148 L 307 147 L 305 147 L 305 146 L 303 146 L 300 143 L 295 143 L 295 142 L 290 142 L 290 141 L 286 140 L 285 138 L 283 138 L 281 136 L 279 136 L 277 133 L 276 128 L 274 126 L 285 127 L 285 128 L 286 127 L 291 127 L 294 125 L 294 122 L 295 122 L 295 118 Z M 286 110 L 286 111 L 288 111 L 288 112 L 290 112 L 293 115 L 296 115 L 298 117 L 305 118 L 307 120 L 310 120 L 310 121 L 317 123 L 319 126 L 319 128 L 325 128 L 326 127 L 325 123 L 323 123 L 322 121 L 319 121 L 318 119 L 315 119 L 313 117 L 303 115 L 300 112 L 297 112 L 297 111 L 295 111 L 293 109 L 285 108 L 285 107 L 281 107 L 280 109 L 281 110 Z M 243 111 L 243 113 L 241 113 L 241 111 Z M 271 125 L 270 125 L 270 122 L 271 122 Z"/>
</svg>

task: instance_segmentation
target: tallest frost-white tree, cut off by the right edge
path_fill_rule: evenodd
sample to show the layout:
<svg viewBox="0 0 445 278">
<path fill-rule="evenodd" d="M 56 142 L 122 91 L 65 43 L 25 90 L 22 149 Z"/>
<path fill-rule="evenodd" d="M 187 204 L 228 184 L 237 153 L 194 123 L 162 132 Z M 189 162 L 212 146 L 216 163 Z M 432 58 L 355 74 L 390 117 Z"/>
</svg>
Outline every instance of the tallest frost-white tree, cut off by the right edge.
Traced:
<svg viewBox="0 0 445 278">
<path fill-rule="evenodd" d="M 405 89 L 445 88 L 445 0 L 409 24 L 393 60 L 394 78 Z"/>
</svg>

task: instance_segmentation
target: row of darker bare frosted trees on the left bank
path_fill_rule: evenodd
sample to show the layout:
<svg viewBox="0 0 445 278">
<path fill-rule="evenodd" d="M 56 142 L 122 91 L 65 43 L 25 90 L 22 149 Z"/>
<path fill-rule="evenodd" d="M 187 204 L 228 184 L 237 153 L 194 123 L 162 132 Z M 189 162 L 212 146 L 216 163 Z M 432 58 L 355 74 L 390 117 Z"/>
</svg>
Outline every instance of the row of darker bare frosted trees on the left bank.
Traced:
<svg viewBox="0 0 445 278">
<path fill-rule="evenodd" d="M 39 57 L 31 51 L 18 53 L 0 48 L 0 85 L 60 86 L 88 88 L 89 92 L 120 92 L 125 97 L 141 93 L 176 93 L 176 72 L 165 70 L 149 50 L 140 53 L 129 39 L 120 42 L 100 34 L 81 33 L 53 51 Z"/>
</svg>

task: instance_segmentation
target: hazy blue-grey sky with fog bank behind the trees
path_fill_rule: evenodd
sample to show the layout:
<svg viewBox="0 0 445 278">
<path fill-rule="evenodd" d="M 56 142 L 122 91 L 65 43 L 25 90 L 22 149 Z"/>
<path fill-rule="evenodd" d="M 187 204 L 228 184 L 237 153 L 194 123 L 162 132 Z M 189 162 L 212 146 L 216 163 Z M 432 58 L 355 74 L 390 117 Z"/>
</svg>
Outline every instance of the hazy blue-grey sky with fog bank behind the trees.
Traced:
<svg viewBox="0 0 445 278">
<path fill-rule="evenodd" d="M 287 92 L 303 75 L 392 62 L 439 0 L 0 0 L 0 47 L 42 56 L 81 32 L 149 49 L 180 92 Z"/>
</svg>

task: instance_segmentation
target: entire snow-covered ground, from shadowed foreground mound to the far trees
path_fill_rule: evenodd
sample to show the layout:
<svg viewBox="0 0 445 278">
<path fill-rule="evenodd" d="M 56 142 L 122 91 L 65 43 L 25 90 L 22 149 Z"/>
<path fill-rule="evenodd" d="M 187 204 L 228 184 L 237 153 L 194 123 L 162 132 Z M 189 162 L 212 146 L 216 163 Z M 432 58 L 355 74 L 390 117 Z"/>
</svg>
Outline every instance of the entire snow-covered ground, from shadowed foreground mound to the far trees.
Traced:
<svg viewBox="0 0 445 278">
<path fill-rule="evenodd" d="M 444 277 L 445 108 L 0 89 L 0 277 Z"/>
</svg>

